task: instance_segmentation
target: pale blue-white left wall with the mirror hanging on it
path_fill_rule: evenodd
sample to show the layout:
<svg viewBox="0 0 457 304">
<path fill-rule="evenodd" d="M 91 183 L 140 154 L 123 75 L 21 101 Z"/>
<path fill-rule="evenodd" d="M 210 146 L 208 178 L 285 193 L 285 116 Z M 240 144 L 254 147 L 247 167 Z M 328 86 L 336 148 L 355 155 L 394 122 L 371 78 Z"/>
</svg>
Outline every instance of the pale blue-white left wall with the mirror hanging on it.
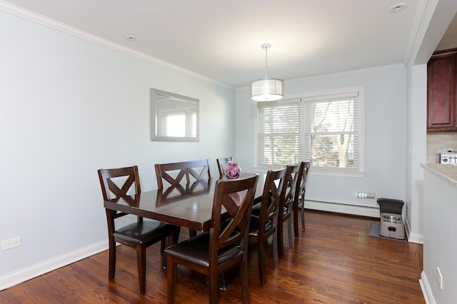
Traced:
<svg viewBox="0 0 457 304">
<path fill-rule="evenodd" d="M 0 251 L 0 290 L 106 240 L 97 169 L 138 165 L 148 191 L 154 163 L 209 158 L 217 174 L 234 155 L 233 90 L 4 11 L 0 36 L 0 240 L 22 239 Z M 149 140 L 150 88 L 200 100 L 198 143 Z"/>
</svg>

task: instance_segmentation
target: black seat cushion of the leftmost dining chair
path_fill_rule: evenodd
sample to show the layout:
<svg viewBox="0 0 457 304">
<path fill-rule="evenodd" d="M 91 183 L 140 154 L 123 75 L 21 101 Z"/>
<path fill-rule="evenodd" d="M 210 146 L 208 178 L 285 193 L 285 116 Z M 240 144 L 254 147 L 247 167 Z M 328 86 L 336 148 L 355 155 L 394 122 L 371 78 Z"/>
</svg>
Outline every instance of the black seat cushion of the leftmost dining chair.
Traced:
<svg viewBox="0 0 457 304">
<path fill-rule="evenodd" d="M 142 221 L 124 226 L 116 230 L 113 235 L 116 239 L 131 243 L 156 243 L 156 241 L 171 235 L 173 227 L 159 221 Z"/>
</svg>

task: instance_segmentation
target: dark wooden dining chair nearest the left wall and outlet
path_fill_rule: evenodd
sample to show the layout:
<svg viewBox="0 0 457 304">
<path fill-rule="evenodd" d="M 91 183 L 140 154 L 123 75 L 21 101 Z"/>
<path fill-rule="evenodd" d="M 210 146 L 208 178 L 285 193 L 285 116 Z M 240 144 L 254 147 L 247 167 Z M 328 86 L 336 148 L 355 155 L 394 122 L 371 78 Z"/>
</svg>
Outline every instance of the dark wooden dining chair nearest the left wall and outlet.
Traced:
<svg viewBox="0 0 457 304">
<path fill-rule="evenodd" d="M 137 166 L 100 169 L 98 173 L 104 201 L 119 201 L 119 198 L 122 197 L 127 202 L 131 200 L 132 203 L 134 203 L 134 198 L 132 198 L 131 195 L 139 195 L 139 193 L 141 193 Z M 160 240 L 161 251 L 163 251 L 167 238 L 169 240 L 169 245 L 177 243 L 179 227 L 161 223 L 159 221 L 144 221 L 143 218 L 138 217 L 135 223 L 116 229 L 115 219 L 126 216 L 127 213 L 106 208 L 105 211 L 106 221 L 108 222 L 109 240 L 108 278 L 109 280 L 114 280 L 114 274 L 116 272 L 116 242 L 135 248 L 140 293 L 144 295 L 144 293 L 146 293 L 146 248 Z"/>
</svg>

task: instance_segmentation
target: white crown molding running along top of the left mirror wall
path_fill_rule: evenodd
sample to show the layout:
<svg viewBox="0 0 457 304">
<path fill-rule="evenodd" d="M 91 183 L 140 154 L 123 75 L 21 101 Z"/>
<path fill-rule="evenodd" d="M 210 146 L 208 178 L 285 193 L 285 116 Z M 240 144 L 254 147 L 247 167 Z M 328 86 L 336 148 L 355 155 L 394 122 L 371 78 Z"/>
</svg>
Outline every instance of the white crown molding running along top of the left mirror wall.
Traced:
<svg viewBox="0 0 457 304">
<path fill-rule="evenodd" d="M 171 69 L 173 71 L 177 71 L 181 74 L 185 74 L 187 76 L 191 76 L 197 79 L 200 79 L 202 81 L 206 81 L 209 83 L 213 83 L 216 86 L 221 86 L 223 88 L 228 88 L 230 90 L 234 90 L 235 88 L 233 86 L 229 86 L 226 83 L 221 83 L 219 81 L 215 81 L 214 79 L 208 78 L 206 76 L 196 74 L 193 71 L 189 71 L 187 69 L 183 69 L 180 66 L 175 66 L 174 64 L 170 64 L 167 61 L 163 61 L 161 59 L 157 59 L 156 57 L 149 56 L 147 54 L 144 54 L 140 51 L 136 51 L 134 49 L 130 49 L 126 46 L 122 46 L 121 44 L 116 44 L 113 41 L 109 41 L 107 39 L 101 38 L 99 36 L 96 36 L 94 34 L 90 34 L 86 31 L 81 31 L 80 29 L 76 29 L 73 26 L 69 26 L 68 24 L 63 24 L 59 21 L 56 21 L 54 19 L 50 19 L 48 17 L 42 16 L 40 14 L 36 14 L 33 11 L 29 11 L 26 9 L 21 8 L 20 6 L 16 6 L 14 4 L 10 4 L 9 2 L 6 2 L 4 0 L 0 0 L 0 10 L 5 11 L 6 13 L 19 16 L 21 18 L 27 19 L 29 21 L 33 21 L 36 24 L 41 24 L 44 26 L 47 26 L 51 29 L 56 29 L 57 31 L 64 32 L 66 34 L 76 36 L 78 38 L 84 39 L 86 41 L 91 41 L 94 44 L 99 44 L 100 46 L 105 46 L 109 49 L 113 49 L 115 51 L 119 51 L 121 53 L 134 56 L 138 59 L 148 61 L 152 64 L 156 64 L 158 66 L 162 66 L 166 69 Z"/>
</svg>

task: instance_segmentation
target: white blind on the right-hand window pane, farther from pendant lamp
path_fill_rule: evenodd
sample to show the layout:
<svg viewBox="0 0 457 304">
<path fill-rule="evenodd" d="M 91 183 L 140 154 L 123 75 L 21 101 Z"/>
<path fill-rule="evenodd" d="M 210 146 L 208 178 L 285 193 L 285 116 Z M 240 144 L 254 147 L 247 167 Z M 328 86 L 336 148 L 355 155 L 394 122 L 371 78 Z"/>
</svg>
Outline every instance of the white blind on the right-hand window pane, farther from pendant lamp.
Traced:
<svg viewBox="0 0 457 304">
<path fill-rule="evenodd" d="M 305 159 L 314 170 L 359 171 L 358 92 L 303 98 Z"/>
</svg>

